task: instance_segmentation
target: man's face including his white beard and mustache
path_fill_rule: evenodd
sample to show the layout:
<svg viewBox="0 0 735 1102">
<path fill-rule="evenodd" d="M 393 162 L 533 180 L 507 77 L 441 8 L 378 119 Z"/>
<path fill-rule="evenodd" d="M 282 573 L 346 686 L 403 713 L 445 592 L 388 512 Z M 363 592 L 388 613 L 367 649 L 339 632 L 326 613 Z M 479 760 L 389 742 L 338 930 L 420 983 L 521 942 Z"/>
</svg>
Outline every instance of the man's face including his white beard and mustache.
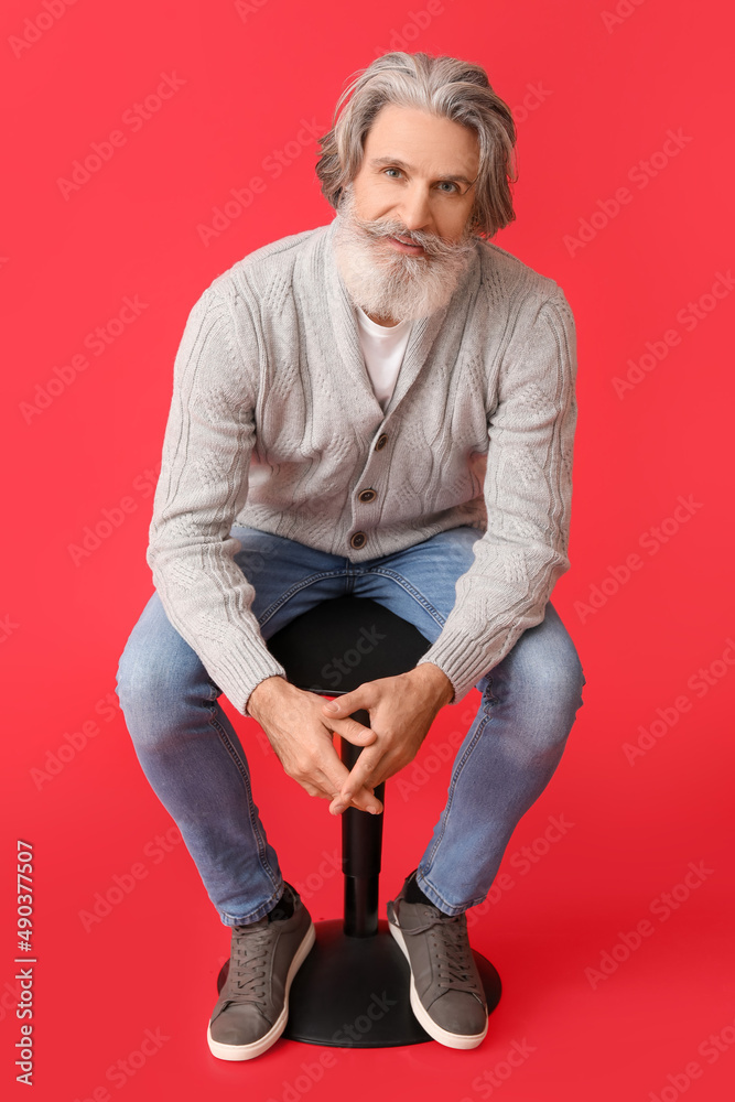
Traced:
<svg viewBox="0 0 735 1102">
<path fill-rule="evenodd" d="M 452 296 L 475 251 L 478 165 L 467 128 L 393 104 L 378 114 L 335 236 L 347 290 L 374 321 L 425 317 Z"/>
</svg>

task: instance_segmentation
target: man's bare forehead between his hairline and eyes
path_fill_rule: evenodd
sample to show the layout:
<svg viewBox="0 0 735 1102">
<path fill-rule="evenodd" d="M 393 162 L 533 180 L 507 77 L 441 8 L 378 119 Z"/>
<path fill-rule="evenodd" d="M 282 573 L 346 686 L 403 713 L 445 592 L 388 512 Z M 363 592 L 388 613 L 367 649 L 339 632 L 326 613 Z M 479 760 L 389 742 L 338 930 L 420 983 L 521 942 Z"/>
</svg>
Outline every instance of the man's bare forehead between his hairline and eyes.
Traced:
<svg viewBox="0 0 735 1102">
<path fill-rule="evenodd" d="M 420 171 L 468 173 L 474 179 L 479 166 L 479 143 L 474 130 L 458 122 L 414 107 L 387 104 L 367 133 L 365 156 L 394 156 Z"/>
</svg>

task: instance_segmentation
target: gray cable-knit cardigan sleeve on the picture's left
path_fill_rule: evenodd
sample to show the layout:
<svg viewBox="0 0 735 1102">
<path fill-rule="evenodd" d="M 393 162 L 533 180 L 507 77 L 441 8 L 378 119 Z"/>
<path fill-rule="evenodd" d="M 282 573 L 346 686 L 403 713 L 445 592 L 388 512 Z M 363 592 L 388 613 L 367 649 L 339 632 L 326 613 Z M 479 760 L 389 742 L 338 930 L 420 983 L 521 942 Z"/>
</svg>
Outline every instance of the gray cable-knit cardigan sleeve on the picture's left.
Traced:
<svg viewBox="0 0 735 1102">
<path fill-rule="evenodd" d="M 245 307 L 245 304 L 244 304 Z M 250 612 L 255 588 L 234 554 L 255 442 L 258 342 L 249 311 L 235 328 L 207 288 L 192 307 L 173 369 L 173 397 L 153 499 L 147 561 L 173 627 L 238 712 L 256 685 L 285 670 Z"/>
</svg>

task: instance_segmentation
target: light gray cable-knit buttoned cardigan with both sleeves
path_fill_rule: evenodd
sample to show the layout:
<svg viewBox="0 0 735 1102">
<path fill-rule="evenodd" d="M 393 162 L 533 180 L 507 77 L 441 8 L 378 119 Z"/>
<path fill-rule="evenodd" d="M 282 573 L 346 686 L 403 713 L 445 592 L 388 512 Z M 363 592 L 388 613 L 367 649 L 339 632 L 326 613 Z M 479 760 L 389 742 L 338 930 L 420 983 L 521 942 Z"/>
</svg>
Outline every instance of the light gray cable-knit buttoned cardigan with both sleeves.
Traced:
<svg viewBox="0 0 735 1102">
<path fill-rule="evenodd" d="M 421 659 L 446 673 L 454 702 L 543 619 L 570 565 L 576 337 L 561 288 L 477 238 L 448 304 L 414 324 L 383 413 L 335 227 L 217 276 L 174 363 L 147 560 L 172 625 L 245 715 L 256 685 L 285 671 L 250 611 L 233 525 L 352 562 L 479 529 Z"/>
</svg>

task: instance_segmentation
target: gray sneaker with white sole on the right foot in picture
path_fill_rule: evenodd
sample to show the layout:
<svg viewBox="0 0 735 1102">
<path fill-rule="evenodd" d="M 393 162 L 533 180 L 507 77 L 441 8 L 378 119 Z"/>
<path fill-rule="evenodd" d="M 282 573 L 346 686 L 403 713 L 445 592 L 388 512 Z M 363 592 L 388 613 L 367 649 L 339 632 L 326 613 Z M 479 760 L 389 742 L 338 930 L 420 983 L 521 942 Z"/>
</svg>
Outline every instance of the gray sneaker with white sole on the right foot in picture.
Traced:
<svg viewBox="0 0 735 1102">
<path fill-rule="evenodd" d="M 411 1009 L 430 1037 L 447 1048 L 476 1048 L 487 1034 L 487 1001 L 467 938 L 466 915 L 388 903 L 388 929 L 411 968 Z"/>
</svg>

